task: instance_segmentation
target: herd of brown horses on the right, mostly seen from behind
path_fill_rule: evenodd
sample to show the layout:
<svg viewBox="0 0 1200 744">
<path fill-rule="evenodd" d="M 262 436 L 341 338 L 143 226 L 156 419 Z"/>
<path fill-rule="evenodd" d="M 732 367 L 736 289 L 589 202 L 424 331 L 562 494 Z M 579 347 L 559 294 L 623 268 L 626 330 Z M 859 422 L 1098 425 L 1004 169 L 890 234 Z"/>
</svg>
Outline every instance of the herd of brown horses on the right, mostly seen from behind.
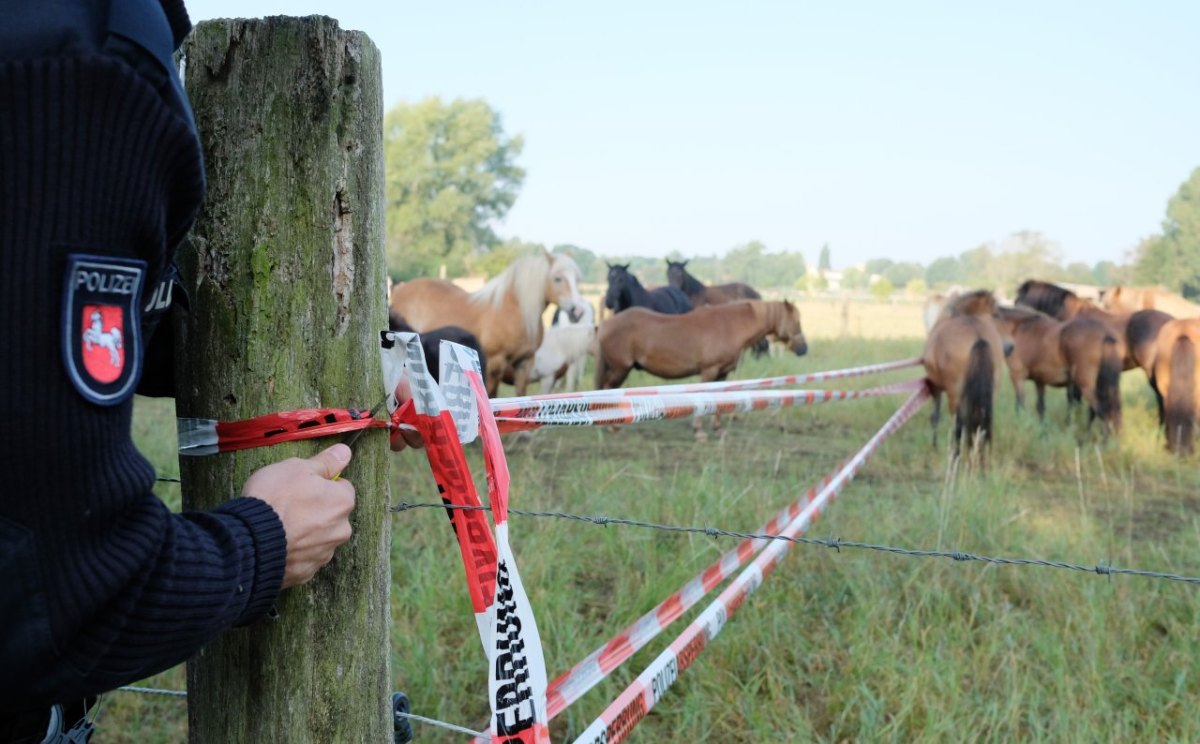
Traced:
<svg viewBox="0 0 1200 744">
<path fill-rule="evenodd" d="M 954 413 L 953 451 L 992 433 L 992 407 L 1003 368 L 1024 407 L 1025 383 L 1037 388 L 1037 412 L 1045 419 L 1045 389 L 1066 388 L 1068 421 L 1080 401 L 1087 426 L 1100 420 L 1104 436 L 1121 430 L 1121 373 L 1140 367 L 1158 402 L 1168 448 L 1193 449 L 1200 378 L 1196 343 L 1200 306 L 1156 288 L 1115 287 L 1099 302 L 1050 282 L 1026 281 L 1013 306 L 988 290 L 946 301 L 925 341 L 923 361 L 935 396 L 934 443 L 941 394 Z"/>
</svg>

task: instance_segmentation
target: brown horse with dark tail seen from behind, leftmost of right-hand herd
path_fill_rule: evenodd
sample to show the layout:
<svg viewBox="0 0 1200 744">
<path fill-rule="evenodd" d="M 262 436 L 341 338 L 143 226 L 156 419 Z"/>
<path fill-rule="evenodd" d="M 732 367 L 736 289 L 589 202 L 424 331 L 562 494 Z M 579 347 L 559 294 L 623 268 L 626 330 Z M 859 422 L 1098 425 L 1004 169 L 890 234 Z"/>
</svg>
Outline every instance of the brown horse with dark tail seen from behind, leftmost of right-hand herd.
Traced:
<svg viewBox="0 0 1200 744">
<path fill-rule="evenodd" d="M 991 442 L 992 407 L 1001 370 L 1004 341 L 992 318 L 996 299 L 986 290 L 960 295 L 942 310 L 942 317 L 925 338 L 922 361 L 934 396 L 929 424 L 937 446 L 937 424 L 942 418 L 942 392 L 954 412 L 954 457 L 961 452 L 964 431 L 967 450 L 976 436 L 984 445 Z"/>
</svg>

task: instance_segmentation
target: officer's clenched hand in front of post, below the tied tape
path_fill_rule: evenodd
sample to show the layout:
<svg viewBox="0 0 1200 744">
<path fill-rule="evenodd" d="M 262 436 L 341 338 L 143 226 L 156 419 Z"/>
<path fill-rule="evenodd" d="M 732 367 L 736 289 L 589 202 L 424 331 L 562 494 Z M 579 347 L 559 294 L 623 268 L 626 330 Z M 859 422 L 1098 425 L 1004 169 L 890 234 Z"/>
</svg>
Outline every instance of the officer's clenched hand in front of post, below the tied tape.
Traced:
<svg viewBox="0 0 1200 744">
<path fill-rule="evenodd" d="M 350 539 L 354 485 L 332 480 L 350 462 L 344 444 L 308 460 L 292 457 L 254 470 L 242 496 L 262 499 L 275 509 L 288 539 L 283 588 L 302 584 L 334 558 L 334 550 Z"/>
</svg>

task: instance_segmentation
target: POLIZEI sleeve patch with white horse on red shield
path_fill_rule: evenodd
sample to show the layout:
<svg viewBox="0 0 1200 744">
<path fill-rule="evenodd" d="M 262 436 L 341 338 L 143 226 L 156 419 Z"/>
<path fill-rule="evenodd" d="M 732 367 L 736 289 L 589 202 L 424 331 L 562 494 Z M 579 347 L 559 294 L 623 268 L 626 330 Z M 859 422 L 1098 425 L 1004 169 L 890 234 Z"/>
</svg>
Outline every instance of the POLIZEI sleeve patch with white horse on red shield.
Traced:
<svg viewBox="0 0 1200 744">
<path fill-rule="evenodd" d="M 62 284 L 62 360 L 76 389 L 100 406 L 128 398 L 142 376 L 139 314 L 144 260 L 67 257 Z"/>
</svg>

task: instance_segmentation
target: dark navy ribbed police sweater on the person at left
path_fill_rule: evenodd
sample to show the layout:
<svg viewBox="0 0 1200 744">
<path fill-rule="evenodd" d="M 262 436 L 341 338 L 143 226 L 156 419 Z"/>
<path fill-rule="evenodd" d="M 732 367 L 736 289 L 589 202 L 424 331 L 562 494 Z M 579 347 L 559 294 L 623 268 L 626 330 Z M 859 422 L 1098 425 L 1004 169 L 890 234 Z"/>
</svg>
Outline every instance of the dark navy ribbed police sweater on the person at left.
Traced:
<svg viewBox="0 0 1200 744">
<path fill-rule="evenodd" d="M 182 4 L 132 1 L 176 48 Z M 96 403 L 70 371 L 83 343 L 71 311 L 100 301 L 70 295 L 70 257 L 140 266 L 125 310 L 152 305 L 204 196 L 186 102 L 152 54 L 106 46 L 106 6 L 0 0 L 0 712 L 174 666 L 263 614 L 283 578 L 286 536 L 266 503 L 168 511 L 130 437 L 132 390 Z M 131 322 L 126 338 L 144 346 Z M 120 354 L 138 364 L 138 349 Z"/>
</svg>

